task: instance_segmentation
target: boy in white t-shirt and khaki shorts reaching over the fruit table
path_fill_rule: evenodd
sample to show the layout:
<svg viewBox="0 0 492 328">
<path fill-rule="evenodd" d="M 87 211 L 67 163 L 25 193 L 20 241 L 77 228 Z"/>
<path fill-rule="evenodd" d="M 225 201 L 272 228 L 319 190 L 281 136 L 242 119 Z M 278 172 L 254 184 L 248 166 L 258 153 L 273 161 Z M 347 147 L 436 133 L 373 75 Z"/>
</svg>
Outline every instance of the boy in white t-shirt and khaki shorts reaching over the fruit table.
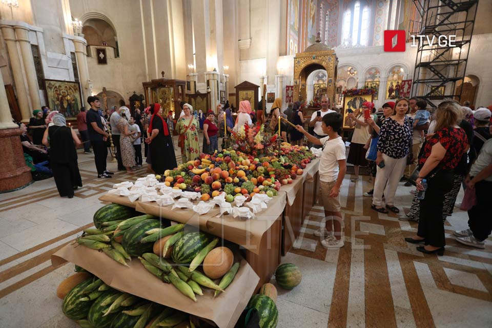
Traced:
<svg viewBox="0 0 492 328">
<path fill-rule="evenodd" d="M 343 247 L 340 186 L 347 167 L 345 142 L 338 135 L 342 124 L 342 115 L 338 113 L 325 114 L 321 128 L 327 136 L 321 139 L 309 134 L 299 125 L 296 127 L 309 141 L 313 142 L 314 145 L 321 146 L 322 149 L 319 160 L 319 180 L 326 224 L 314 234 L 322 237 L 321 244 L 326 248 Z"/>
</svg>

